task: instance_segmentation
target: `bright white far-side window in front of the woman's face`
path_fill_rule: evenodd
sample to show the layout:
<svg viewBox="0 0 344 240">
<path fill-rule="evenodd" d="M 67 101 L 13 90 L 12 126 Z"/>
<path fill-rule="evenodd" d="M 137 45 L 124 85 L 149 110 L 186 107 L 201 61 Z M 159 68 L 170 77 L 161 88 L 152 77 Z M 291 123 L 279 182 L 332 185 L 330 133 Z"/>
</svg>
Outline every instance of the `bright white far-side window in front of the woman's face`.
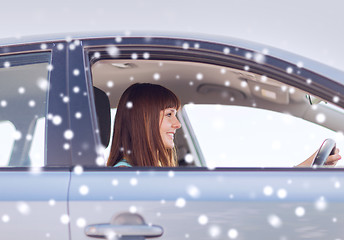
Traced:
<svg viewBox="0 0 344 240">
<path fill-rule="evenodd" d="M 292 167 L 326 138 L 343 144 L 340 133 L 286 113 L 214 104 L 184 112 L 210 167 Z"/>
</svg>

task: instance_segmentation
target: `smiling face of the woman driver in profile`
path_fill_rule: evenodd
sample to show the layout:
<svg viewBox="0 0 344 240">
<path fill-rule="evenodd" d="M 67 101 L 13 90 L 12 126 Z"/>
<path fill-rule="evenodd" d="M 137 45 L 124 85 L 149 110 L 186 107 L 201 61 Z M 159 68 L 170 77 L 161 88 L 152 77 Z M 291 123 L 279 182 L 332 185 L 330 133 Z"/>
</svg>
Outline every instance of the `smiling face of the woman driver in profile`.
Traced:
<svg viewBox="0 0 344 240">
<path fill-rule="evenodd" d="M 166 148 L 174 147 L 174 134 L 181 127 L 176 114 L 175 108 L 166 108 L 160 111 L 160 136 Z"/>
</svg>

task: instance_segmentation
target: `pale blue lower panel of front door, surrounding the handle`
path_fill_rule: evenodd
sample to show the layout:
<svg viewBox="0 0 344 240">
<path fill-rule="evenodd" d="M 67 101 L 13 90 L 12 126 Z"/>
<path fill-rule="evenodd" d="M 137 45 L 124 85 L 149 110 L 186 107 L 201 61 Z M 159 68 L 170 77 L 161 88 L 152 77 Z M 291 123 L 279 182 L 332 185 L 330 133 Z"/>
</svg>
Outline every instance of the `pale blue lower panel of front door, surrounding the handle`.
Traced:
<svg viewBox="0 0 344 240">
<path fill-rule="evenodd" d="M 342 172 L 192 170 L 73 174 L 72 239 L 85 236 L 76 219 L 109 223 L 122 212 L 161 226 L 163 239 L 225 239 L 230 230 L 237 239 L 336 239 L 344 233 Z M 80 194 L 82 186 L 87 194 Z"/>
</svg>

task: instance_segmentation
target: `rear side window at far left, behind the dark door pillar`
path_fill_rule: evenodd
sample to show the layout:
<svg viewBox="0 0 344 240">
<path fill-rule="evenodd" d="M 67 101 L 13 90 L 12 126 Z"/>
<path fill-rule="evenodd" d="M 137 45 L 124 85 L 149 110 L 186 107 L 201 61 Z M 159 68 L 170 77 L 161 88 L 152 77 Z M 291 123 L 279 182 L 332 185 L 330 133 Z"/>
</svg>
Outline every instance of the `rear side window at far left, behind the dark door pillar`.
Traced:
<svg viewBox="0 0 344 240">
<path fill-rule="evenodd" d="M 2 167 L 44 166 L 50 56 L 41 52 L 0 57 Z"/>
</svg>

